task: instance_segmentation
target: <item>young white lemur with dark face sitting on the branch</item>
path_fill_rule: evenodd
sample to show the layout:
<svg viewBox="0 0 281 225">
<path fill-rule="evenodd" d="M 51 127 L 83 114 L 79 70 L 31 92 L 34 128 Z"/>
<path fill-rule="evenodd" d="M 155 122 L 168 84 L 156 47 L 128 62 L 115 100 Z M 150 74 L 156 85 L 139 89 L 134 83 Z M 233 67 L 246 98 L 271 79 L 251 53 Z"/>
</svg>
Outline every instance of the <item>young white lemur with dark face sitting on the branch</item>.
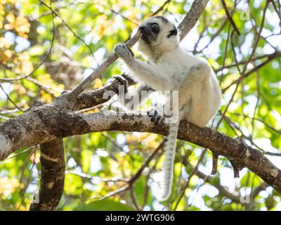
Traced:
<svg viewBox="0 0 281 225">
<path fill-rule="evenodd" d="M 178 122 L 187 120 L 199 127 L 206 126 L 220 106 L 221 89 L 210 66 L 181 48 L 176 27 L 169 20 L 151 17 L 138 29 L 141 30 L 138 50 L 148 63 L 134 58 L 126 45 L 117 44 L 114 51 L 124 60 L 126 74 L 142 83 L 138 91 L 145 86 L 156 91 L 178 91 L 178 121 L 169 124 L 164 146 L 160 199 L 166 200 L 171 194 Z M 158 117 L 152 117 L 152 121 L 157 120 Z"/>
</svg>

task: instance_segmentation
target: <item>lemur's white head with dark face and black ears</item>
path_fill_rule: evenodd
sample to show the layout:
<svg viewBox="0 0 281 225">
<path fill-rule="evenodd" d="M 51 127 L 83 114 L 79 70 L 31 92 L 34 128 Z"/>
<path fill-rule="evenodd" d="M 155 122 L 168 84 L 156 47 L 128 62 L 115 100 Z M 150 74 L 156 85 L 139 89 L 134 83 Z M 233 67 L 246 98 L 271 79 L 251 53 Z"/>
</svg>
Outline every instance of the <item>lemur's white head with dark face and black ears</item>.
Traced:
<svg viewBox="0 0 281 225">
<path fill-rule="evenodd" d="M 148 18 L 139 27 L 141 39 L 148 45 L 164 43 L 166 39 L 176 37 L 177 30 L 174 24 L 162 16 Z"/>
</svg>

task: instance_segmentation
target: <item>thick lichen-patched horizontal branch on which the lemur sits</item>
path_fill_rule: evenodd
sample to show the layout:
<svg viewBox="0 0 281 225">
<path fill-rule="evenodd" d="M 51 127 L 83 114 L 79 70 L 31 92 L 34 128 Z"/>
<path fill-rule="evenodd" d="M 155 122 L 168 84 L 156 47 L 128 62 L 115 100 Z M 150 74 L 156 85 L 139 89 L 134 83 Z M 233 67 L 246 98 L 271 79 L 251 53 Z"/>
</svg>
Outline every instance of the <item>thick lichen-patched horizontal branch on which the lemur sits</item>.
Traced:
<svg viewBox="0 0 281 225">
<path fill-rule="evenodd" d="M 9 120 L 0 131 L 0 160 L 23 146 L 34 146 L 53 141 L 56 137 L 73 136 L 97 131 L 139 131 L 168 134 L 166 124 L 155 126 L 146 114 L 128 115 L 113 112 L 79 115 L 53 105 L 32 108 L 26 113 Z M 209 148 L 223 155 L 237 169 L 247 167 L 281 193 L 281 171 L 259 150 L 246 146 L 240 139 L 204 127 L 181 122 L 178 139 Z"/>
</svg>

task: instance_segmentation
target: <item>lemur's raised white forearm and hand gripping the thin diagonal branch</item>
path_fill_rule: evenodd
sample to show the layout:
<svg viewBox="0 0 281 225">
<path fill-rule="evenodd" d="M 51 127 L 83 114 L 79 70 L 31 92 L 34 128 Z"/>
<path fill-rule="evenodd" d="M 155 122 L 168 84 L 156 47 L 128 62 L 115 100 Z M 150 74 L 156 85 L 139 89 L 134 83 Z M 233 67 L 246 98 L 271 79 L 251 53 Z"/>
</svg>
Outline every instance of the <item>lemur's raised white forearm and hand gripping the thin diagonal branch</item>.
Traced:
<svg viewBox="0 0 281 225">
<path fill-rule="evenodd" d="M 163 89 L 164 86 L 169 84 L 164 72 L 160 72 L 159 68 L 155 65 L 136 60 L 131 50 L 128 49 L 125 44 L 118 44 L 115 46 L 114 51 L 124 60 L 127 68 L 131 71 L 129 74 L 133 75 L 133 78 L 137 79 L 138 82 L 144 82 L 155 89 L 157 89 L 157 87 Z"/>
</svg>

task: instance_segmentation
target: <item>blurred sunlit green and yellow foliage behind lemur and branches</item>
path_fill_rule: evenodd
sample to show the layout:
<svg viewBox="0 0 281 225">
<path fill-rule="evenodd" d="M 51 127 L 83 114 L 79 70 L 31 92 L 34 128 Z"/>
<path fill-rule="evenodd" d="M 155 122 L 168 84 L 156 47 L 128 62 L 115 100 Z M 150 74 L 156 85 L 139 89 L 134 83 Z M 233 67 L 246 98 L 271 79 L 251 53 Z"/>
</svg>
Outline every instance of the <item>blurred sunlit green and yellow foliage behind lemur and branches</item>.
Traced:
<svg viewBox="0 0 281 225">
<path fill-rule="evenodd" d="M 178 24 L 191 4 L 0 0 L 0 123 L 20 115 L 34 101 L 51 103 L 64 89 L 73 89 L 152 13 Z M 183 47 L 208 60 L 220 81 L 223 103 L 211 126 L 240 136 L 281 168 L 280 1 L 226 5 L 240 35 L 221 1 L 214 0 L 182 41 Z M 91 89 L 103 86 L 121 68 L 119 61 L 114 63 Z M 95 112 L 98 108 L 85 113 Z M 178 141 L 173 194 L 160 203 L 155 172 L 163 160 L 157 152 L 162 140 L 156 134 L 115 131 L 64 139 L 67 174 L 58 210 L 281 209 L 273 188 L 247 169 L 234 179 L 223 157 L 218 174 L 209 176 L 209 150 L 184 141 Z M 39 176 L 38 146 L 19 149 L 0 162 L 0 210 L 28 210 Z"/>
</svg>

